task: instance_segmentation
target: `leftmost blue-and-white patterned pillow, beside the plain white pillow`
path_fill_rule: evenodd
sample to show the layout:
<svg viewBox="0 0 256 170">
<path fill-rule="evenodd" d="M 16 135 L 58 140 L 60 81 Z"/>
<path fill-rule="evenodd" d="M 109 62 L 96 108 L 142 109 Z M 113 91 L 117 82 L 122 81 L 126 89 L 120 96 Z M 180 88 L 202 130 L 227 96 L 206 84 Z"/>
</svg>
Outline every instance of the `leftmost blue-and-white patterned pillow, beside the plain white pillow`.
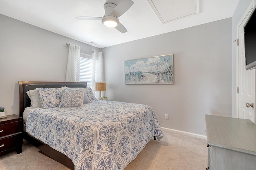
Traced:
<svg viewBox="0 0 256 170">
<path fill-rule="evenodd" d="M 57 107 L 60 104 L 62 89 L 37 88 L 38 98 L 42 108 Z"/>
</svg>

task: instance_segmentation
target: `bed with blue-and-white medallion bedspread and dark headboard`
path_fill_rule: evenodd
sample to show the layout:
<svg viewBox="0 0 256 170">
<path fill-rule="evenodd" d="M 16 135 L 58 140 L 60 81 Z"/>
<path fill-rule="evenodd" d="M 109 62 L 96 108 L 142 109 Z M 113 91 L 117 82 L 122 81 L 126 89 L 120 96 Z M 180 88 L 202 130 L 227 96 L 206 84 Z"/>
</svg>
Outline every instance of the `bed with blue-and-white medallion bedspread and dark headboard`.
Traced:
<svg viewBox="0 0 256 170">
<path fill-rule="evenodd" d="M 34 101 L 28 94 L 35 89 L 40 102 L 49 89 L 61 101 L 30 107 Z M 150 106 L 97 100 L 86 82 L 19 81 L 19 91 L 23 138 L 73 170 L 123 170 L 152 137 L 163 137 Z M 69 107 L 70 95 L 87 102 Z"/>
</svg>

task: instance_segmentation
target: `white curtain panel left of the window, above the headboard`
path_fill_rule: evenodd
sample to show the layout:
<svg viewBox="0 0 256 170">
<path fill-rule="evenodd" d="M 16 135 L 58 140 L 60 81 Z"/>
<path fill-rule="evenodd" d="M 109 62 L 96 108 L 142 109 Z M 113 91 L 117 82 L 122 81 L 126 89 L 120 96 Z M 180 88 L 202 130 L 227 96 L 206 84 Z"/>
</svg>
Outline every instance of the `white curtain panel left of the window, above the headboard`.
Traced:
<svg viewBox="0 0 256 170">
<path fill-rule="evenodd" d="M 69 44 L 66 82 L 79 82 L 80 78 L 80 46 Z"/>
</svg>

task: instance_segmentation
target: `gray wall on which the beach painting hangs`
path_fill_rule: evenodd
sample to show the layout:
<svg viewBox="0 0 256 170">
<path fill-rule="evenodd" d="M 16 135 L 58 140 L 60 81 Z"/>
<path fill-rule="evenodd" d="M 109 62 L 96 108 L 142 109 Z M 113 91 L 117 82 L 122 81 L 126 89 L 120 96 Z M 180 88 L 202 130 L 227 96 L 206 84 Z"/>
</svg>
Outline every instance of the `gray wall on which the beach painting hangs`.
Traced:
<svg viewBox="0 0 256 170">
<path fill-rule="evenodd" d="M 231 48 L 231 18 L 106 47 L 105 95 L 151 106 L 162 127 L 206 135 L 205 114 L 231 117 Z M 166 54 L 173 85 L 124 84 L 124 61 Z"/>
</svg>

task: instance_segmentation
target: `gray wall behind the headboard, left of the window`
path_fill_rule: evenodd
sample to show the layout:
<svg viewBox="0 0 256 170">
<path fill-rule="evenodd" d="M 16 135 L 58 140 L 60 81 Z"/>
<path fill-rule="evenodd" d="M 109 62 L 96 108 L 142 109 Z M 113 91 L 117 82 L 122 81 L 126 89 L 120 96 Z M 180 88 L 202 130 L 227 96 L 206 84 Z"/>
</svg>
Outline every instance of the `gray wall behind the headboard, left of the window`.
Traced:
<svg viewBox="0 0 256 170">
<path fill-rule="evenodd" d="M 0 14 L 0 106 L 18 115 L 18 81 L 65 81 L 68 47 L 98 48 Z"/>
</svg>

